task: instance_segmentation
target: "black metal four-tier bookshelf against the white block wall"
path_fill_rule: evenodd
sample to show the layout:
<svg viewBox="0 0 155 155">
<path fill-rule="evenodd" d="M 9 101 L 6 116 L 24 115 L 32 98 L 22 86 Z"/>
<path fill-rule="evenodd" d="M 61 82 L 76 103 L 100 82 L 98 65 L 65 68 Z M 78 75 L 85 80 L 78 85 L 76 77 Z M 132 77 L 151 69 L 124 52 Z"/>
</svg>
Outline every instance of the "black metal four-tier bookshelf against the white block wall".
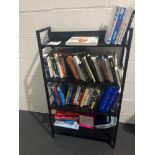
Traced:
<svg viewBox="0 0 155 155">
<path fill-rule="evenodd" d="M 42 43 L 41 41 L 41 33 L 47 32 L 48 35 L 48 41 Z M 119 125 L 119 117 L 120 117 L 120 110 L 121 110 L 121 104 L 122 104 L 122 98 L 123 98 L 123 91 L 124 91 L 124 85 L 125 85 L 125 79 L 126 79 L 126 72 L 127 72 L 127 66 L 128 66 L 128 59 L 130 54 L 130 46 L 132 41 L 132 35 L 133 35 L 133 28 L 130 28 L 128 26 L 126 33 L 124 35 L 123 41 L 121 45 L 110 45 L 105 44 L 104 37 L 105 37 L 106 31 L 72 31 L 72 32 L 52 32 L 50 27 L 43 28 L 41 30 L 36 31 L 37 35 L 37 41 L 38 41 L 38 47 L 39 47 L 39 55 L 40 55 L 40 61 L 41 61 L 41 67 L 42 67 L 42 73 L 43 73 L 43 79 L 44 79 L 44 85 L 45 85 L 45 92 L 46 92 L 46 98 L 47 98 L 47 106 L 48 106 L 48 112 L 49 112 L 49 121 L 50 121 L 50 127 L 51 127 L 51 135 L 52 137 L 55 137 L 56 132 L 60 132 L 62 134 L 73 134 L 74 136 L 78 137 L 86 137 L 86 138 L 93 138 L 93 139 L 100 139 L 101 141 L 107 142 L 111 147 L 115 147 L 116 143 L 116 137 L 117 137 L 117 130 Z M 97 46 L 66 46 L 65 42 L 72 36 L 99 36 L 99 41 Z M 61 44 L 59 45 L 47 45 L 48 42 L 51 41 L 61 41 Z M 82 81 L 82 80 L 76 80 L 76 79 L 67 79 L 67 78 L 52 78 L 52 77 L 46 77 L 46 72 L 44 69 L 44 58 L 43 58 L 43 49 L 50 48 L 49 55 L 52 55 L 54 53 L 63 53 L 64 55 L 70 54 L 87 54 L 89 53 L 88 48 L 121 48 L 121 55 L 120 55 L 120 64 L 123 64 L 123 60 L 125 59 L 125 63 L 123 65 L 123 76 L 122 76 L 122 83 L 121 83 L 121 93 L 119 97 L 119 104 L 115 108 L 113 112 L 100 112 L 97 109 L 90 110 L 88 107 L 79 107 L 76 105 L 65 105 L 65 106 L 58 106 L 55 101 L 51 104 L 50 98 L 49 98 L 49 92 L 48 92 L 48 86 L 47 83 L 64 83 L 66 85 L 81 85 L 81 86 L 100 86 L 100 87 L 107 87 L 107 86 L 117 86 L 115 82 L 92 82 L 92 81 Z M 60 49 L 60 50 L 59 50 Z M 76 49 L 76 50 L 75 50 Z M 74 51 L 74 53 L 73 53 Z M 77 53 L 76 53 L 76 52 Z M 124 54 L 126 51 L 126 54 Z M 117 51 L 116 51 L 117 52 Z M 97 55 L 98 53 L 95 53 Z M 79 130 L 72 130 L 67 128 L 61 128 L 54 126 L 55 117 L 52 113 L 52 110 L 61 110 L 66 112 L 78 112 L 80 114 L 93 114 L 94 116 L 115 116 L 117 117 L 117 122 L 114 127 L 107 128 L 107 129 L 86 129 L 83 127 L 79 127 Z M 60 130 L 60 131 L 59 131 Z"/>
</svg>

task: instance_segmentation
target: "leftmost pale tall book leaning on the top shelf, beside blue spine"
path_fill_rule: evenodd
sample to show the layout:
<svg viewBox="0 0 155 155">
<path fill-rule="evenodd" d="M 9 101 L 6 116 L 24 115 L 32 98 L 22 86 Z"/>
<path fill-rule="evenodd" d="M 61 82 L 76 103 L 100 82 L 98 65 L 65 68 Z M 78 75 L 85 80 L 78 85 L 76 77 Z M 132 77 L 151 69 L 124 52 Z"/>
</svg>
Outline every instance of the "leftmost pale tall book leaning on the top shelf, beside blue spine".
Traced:
<svg viewBox="0 0 155 155">
<path fill-rule="evenodd" d="M 117 23 L 117 19 L 118 19 L 118 15 L 119 15 L 119 10 L 120 10 L 120 7 L 117 6 L 116 7 L 116 11 L 115 11 L 115 15 L 114 15 L 114 19 L 113 19 L 113 24 L 112 24 L 111 32 L 110 32 L 109 36 L 106 39 L 106 43 L 107 44 L 110 44 L 110 41 L 111 41 L 111 38 L 112 38 L 112 35 L 113 35 L 113 32 L 114 32 L 114 29 L 115 29 L 115 26 L 116 26 L 116 23 Z"/>
</svg>

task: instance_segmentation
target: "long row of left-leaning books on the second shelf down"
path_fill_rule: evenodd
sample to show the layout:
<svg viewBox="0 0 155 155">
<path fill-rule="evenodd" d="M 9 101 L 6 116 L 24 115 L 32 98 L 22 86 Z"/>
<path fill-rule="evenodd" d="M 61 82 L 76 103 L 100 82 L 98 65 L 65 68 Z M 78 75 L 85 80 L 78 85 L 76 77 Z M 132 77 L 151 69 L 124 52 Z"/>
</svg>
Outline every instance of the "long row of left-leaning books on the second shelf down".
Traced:
<svg viewBox="0 0 155 155">
<path fill-rule="evenodd" d="M 104 82 L 105 80 L 121 85 L 121 71 L 115 56 L 44 55 L 47 77 L 69 78 L 83 81 Z"/>
</svg>

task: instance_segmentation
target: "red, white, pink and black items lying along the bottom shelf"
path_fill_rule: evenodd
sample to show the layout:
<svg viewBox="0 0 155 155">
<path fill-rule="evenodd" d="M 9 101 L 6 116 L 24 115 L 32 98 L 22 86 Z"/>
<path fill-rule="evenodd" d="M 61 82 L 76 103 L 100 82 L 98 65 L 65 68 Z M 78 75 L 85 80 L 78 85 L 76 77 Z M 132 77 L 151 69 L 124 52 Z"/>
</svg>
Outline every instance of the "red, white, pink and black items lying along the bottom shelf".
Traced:
<svg viewBox="0 0 155 155">
<path fill-rule="evenodd" d="M 117 118 L 113 116 L 83 115 L 56 110 L 54 126 L 78 130 L 79 127 L 88 129 L 106 129 L 116 125 Z"/>
</svg>

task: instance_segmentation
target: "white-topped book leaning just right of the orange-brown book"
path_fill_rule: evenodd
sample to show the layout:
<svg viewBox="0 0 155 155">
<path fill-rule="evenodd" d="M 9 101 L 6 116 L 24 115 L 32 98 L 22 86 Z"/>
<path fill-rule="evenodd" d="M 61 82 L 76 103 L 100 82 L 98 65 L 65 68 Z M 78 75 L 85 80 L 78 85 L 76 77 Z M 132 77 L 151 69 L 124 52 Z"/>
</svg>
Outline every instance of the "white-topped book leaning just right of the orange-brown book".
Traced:
<svg viewBox="0 0 155 155">
<path fill-rule="evenodd" d="M 78 58 L 77 55 L 76 56 L 73 56 L 73 61 L 74 61 L 74 64 L 76 66 L 76 69 L 78 71 L 78 74 L 79 74 L 81 80 L 86 81 L 86 79 L 85 79 L 85 77 L 84 77 L 84 75 L 82 73 L 82 70 L 81 70 L 81 68 L 79 66 L 81 64 L 81 62 L 80 62 L 80 60 L 79 60 L 79 58 Z"/>
</svg>

